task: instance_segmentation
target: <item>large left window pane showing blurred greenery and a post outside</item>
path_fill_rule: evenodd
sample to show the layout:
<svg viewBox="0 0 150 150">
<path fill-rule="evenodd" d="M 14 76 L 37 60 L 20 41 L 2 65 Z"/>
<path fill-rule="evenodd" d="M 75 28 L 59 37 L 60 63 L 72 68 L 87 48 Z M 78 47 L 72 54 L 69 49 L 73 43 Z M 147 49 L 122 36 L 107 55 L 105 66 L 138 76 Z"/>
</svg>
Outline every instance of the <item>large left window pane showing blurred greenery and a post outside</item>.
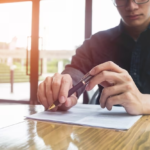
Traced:
<svg viewBox="0 0 150 150">
<path fill-rule="evenodd" d="M 30 99 L 26 47 L 31 17 L 32 2 L 0 4 L 0 99 Z"/>
</svg>

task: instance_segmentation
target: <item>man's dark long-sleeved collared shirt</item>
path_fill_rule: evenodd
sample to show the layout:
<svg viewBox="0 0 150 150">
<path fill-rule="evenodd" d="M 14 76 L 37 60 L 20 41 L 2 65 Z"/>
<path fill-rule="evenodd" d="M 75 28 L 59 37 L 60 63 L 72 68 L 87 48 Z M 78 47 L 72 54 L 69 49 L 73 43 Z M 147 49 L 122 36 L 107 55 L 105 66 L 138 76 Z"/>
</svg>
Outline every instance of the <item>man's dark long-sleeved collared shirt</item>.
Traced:
<svg viewBox="0 0 150 150">
<path fill-rule="evenodd" d="M 122 22 L 92 35 L 76 50 L 63 73 L 70 74 L 75 85 L 94 66 L 107 61 L 127 70 L 140 92 L 150 94 L 150 25 L 137 41 L 127 34 Z M 99 89 L 101 92 L 102 87 Z M 79 89 L 77 96 L 83 91 L 84 88 Z"/>
</svg>

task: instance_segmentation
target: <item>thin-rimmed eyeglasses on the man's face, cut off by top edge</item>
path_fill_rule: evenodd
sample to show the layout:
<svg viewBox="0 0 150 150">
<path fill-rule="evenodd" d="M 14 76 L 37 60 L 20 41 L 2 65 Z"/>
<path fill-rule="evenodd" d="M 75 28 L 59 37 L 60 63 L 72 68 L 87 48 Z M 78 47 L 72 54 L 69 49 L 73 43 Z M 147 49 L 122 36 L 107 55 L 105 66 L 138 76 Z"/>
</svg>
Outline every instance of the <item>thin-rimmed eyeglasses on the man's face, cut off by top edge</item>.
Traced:
<svg viewBox="0 0 150 150">
<path fill-rule="evenodd" d="M 126 6 L 129 0 L 112 0 L 116 7 Z M 144 4 L 149 0 L 133 0 L 136 4 Z"/>
</svg>

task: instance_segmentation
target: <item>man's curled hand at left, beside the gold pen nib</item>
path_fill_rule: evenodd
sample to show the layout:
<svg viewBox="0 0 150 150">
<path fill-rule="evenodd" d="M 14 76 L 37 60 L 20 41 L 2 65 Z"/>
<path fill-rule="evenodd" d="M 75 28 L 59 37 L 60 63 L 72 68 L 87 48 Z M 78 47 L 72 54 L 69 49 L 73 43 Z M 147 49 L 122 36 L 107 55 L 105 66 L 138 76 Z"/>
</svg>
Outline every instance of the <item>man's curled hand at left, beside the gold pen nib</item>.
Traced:
<svg viewBox="0 0 150 150">
<path fill-rule="evenodd" d="M 47 110 L 58 99 L 61 103 L 53 108 L 68 110 L 77 103 L 76 93 L 68 97 L 68 91 L 72 88 L 72 78 L 69 74 L 55 73 L 52 77 L 47 77 L 38 87 L 37 97 L 39 102 Z"/>
</svg>

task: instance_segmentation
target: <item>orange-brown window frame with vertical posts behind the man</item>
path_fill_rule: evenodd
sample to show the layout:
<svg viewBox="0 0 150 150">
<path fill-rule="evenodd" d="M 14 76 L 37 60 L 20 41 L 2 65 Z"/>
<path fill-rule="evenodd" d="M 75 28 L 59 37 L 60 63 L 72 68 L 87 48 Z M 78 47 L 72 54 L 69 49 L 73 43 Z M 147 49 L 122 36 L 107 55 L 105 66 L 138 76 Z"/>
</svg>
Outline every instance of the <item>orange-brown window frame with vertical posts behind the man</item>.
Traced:
<svg viewBox="0 0 150 150">
<path fill-rule="evenodd" d="M 38 104 L 37 89 L 38 89 L 38 65 L 39 65 L 39 9 L 40 0 L 1 0 L 2 3 L 14 2 L 32 2 L 32 27 L 31 27 L 31 55 L 30 55 L 30 100 L 14 101 L 2 100 L 0 102 L 9 103 L 29 103 Z M 92 33 L 92 0 L 85 0 L 85 39 L 89 38 Z"/>
</svg>

